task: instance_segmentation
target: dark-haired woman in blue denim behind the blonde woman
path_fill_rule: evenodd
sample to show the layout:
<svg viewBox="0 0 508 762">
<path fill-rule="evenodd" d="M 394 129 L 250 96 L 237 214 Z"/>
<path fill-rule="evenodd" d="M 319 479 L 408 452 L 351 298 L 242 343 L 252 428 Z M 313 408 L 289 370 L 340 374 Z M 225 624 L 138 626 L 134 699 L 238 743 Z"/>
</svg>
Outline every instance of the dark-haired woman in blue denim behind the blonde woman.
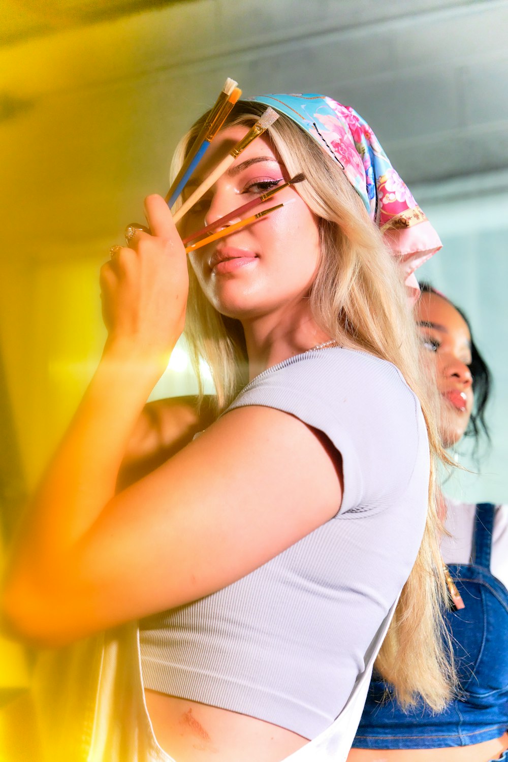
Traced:
<svg viewBox="0 0 508 762">
<path fill-rule="evenodd" d="M 488 438 L 490 373 L 465 315 L 423 285 L 417 322 L 442 400 L 443 444 Z M 508 759 L 508 506 L 446 498 L 443 514 L 443 560 L 461 596 L 448 613 L 461 693 L 441 714 L 422 705 L 404 712 L 395 691 L 387 699 L 386 684 L 372 680 L 348 762 Z"/>
</svg>

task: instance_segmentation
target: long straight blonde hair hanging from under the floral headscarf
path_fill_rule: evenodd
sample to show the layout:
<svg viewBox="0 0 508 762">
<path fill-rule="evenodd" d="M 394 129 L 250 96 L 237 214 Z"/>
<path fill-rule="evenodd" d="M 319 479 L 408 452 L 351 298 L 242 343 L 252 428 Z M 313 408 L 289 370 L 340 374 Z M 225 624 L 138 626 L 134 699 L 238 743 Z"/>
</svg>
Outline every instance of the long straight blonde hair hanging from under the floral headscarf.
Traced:
<svg viewBox="0 0 508 762">
<path fill-rule="evenodd" d="M 264 109 L 261 104 L 240 101 L 228 126 L 251 126 Z M 182 139 L 173 174 L 181 167 L 203 119 Z M 340 346 L 394 363 L 420 399 L 431 453 L 427 524 L 375 667 L 395 687 L 402 706 L 414 704 L 421 696 L 432 709 L 443 709 L 455 689 L 455 674 L 443 626 L 447 594 L 439 552 L 443 527 L 437 511 L 435 471 L 437 459 L 446 463 L 449 459 L 439 439 L 432 389 L 420 373 L 423 363 L 401 272 L 363 201 L 333 158 L 286 117 L 276 120 L 265 134 L 289 177 L 305 169 L 306 181 L 299 185 L 299 194 L 319 218 L 321 257 L 310 293 L 315 322 Z M 200 357 L 209 365 L 220 412 L 247 381 L 244 333 L 238 320 L 221 315 L 203 296 L 192 267 L 185 332 L 198 379 Z M 200 389 L 202 397 L 201 382 Z"/>
</svg>

